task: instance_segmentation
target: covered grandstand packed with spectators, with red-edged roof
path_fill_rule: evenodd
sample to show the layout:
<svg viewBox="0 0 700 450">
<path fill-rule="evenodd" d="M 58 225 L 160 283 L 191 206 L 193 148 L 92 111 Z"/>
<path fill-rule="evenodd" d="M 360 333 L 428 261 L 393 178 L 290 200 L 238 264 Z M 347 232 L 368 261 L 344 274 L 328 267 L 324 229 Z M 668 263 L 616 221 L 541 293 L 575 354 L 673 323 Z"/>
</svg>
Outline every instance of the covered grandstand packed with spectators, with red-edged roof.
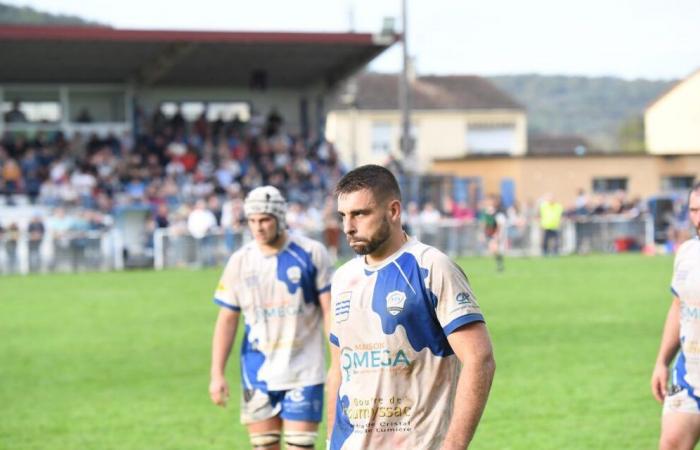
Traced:
<svg viewBox="0 0 700 450">
<path fill-rule="evenodd" d="M 22 272 L 37 251 L 72 269 L 149 264 L 144 230 L 187 228 L 198 200 L 231 228 L 261 184 L 322 208 L 343 171 L 323 138 L 328 98 L 396 40 L 3 26 L 0 229 L 13 250 L 0 259 Z"/>
</svg>

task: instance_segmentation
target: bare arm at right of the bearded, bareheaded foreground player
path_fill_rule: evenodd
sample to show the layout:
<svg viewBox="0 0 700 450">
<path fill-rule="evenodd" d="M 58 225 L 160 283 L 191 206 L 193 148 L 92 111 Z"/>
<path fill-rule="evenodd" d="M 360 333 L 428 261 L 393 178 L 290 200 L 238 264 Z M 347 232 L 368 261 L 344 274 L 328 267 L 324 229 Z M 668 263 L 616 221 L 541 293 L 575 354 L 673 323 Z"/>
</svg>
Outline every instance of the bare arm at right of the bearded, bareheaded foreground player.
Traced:
<svg viewBox="0 0 700 450">
<path fill-rule="evenodd" d="M 466 325 L 447 337 L 462 370 L 455 393 L 452 420 L 442 450 L 469 446 L 489 396 L 496 363 L 486 325 Z"/>
</svg>

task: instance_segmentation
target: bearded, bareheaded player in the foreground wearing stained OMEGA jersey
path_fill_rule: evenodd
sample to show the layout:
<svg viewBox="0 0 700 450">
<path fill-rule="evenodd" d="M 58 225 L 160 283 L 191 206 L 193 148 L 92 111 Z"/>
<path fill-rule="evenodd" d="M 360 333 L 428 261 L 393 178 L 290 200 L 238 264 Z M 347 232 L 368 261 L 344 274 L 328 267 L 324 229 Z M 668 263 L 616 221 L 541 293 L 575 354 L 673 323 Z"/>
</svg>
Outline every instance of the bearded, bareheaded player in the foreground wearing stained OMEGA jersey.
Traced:
<svg viewBox="0 0 700 450">
<path fill-rule="evenodd" d="M 360 256 L 331 283 L 329 448 L 467 448 L 495 370 L 467 277 L 404 233 L 401 193 L 384 167 L 352 170 L 336 194 Z"/>
</svg>

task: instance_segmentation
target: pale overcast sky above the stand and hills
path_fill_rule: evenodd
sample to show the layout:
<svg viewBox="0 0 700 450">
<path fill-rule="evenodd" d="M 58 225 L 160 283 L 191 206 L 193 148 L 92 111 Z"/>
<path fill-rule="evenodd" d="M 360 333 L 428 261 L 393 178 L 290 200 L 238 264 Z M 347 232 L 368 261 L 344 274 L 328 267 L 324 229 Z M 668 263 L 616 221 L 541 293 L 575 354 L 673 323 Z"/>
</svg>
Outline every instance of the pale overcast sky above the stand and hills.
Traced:
<svg viewBox="0 0 700 450">
<path fill-rule="evenodd" d="M 0 0 L 116 28 L 379 32 L 401 0 Z M 406 0 L 418 74 L 677 79 L 700 68 L 700 0 Z M 372 70 L 401 68 L 401 47 Z"/>
</svg>

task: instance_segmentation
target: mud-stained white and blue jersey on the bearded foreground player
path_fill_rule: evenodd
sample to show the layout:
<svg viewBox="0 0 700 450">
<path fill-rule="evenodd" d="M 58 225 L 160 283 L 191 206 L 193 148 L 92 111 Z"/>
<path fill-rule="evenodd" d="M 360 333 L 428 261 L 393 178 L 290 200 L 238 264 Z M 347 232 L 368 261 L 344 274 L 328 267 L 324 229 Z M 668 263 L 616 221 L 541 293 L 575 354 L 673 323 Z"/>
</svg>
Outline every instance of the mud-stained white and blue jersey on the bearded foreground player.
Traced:
<svg viewBox="0 0 700 450">
<path fill-rule="evenodd" d="M 409 239 L 378 266 L 343 265 L 331 299 L 342 381 L 330 448 L 439 448 L 461 367 L 447 336 L 483 321 L 464 273 Z"/>
</svg>

